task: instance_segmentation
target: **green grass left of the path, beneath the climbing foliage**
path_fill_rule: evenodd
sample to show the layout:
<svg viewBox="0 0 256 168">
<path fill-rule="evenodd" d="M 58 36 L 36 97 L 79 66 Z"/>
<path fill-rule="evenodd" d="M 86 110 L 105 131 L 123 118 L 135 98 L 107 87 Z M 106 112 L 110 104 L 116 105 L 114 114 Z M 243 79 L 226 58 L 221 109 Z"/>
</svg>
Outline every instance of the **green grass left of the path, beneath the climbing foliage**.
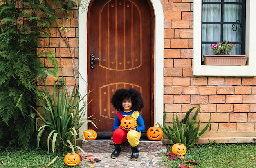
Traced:
<svg viewBox="0 0 256 168">
<path fill-rule="evenodd" d="M 70 168 L 64 164 L 64 157 L 68 152 L 47 152 L 36 149 L 5 149 L 0 150 L 0 168 L 39 168 L 46 167 L 58 155 L 59 157 L 48 168 Z M 74 166 L 80 168 L 80 166 Z"/>
</svg>

